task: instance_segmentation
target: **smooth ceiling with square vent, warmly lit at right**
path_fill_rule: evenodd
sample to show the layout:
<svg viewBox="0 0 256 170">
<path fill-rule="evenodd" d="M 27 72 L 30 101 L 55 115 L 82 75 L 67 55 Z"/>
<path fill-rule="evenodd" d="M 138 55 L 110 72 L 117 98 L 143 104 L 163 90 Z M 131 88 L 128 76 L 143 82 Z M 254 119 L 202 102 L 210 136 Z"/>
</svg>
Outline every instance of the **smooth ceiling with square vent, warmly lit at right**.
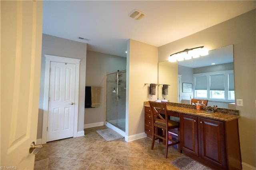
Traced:
<svg viewBox="0 0 256 170">
<path fill-rule="evenodd" d="M 44 34 L 88 43 L 90 51 L 122 57 L 129 39 L 159 47 L 256 8 L 255 0 L 45 0 L 43 4 Z M 130 18 L 135 9 L 144 12 L 144 18 Z"/>
</svg>

